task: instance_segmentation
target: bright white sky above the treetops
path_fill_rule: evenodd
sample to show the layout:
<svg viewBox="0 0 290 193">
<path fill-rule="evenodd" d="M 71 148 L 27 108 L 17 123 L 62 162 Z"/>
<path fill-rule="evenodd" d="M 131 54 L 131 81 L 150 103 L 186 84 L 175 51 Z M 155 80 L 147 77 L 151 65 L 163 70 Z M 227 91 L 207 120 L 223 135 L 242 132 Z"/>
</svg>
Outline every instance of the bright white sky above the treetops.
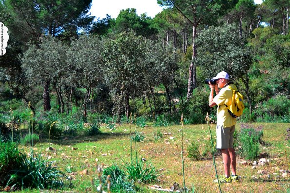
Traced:
<svg viewBox="0 0 290 193">
<path fill-rule="evenodd" d="M 254 1 L 256 4 L 262 3 L 262 0 Z M 146 12 L 152 18 L 162 11 L 157 0 L 92 0 L 91 15 L 102 19 L 109 14 L 111 18 L 117 18 L 120 10 L 127 8 L 135 8 L 138 16 Z"/>
</svg>

